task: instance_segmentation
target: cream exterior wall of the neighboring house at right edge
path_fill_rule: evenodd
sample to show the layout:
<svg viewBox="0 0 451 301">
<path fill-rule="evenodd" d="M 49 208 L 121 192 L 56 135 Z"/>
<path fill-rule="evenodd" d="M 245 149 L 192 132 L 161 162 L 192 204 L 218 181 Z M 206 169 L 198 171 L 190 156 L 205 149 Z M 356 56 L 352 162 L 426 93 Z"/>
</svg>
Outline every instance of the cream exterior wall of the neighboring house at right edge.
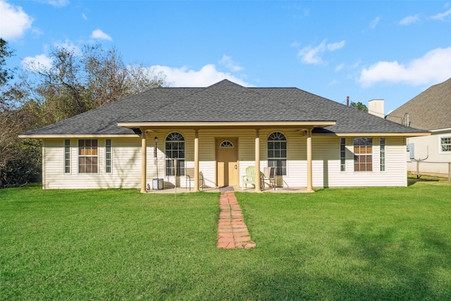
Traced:
<svg viewBox="0 0 451 301">
<path fill-rule="evenodd" d="M 448 163 L 451 162 L 451 152 L 441 151 L 441 137 L 451 137 L 451 130 L 433 132 L 431 136 L 410 137 L 407 139 L 407 144 L 414 144 L 414 159 L 419 160 L 419 173 L 447 176 Z M 407 152 L 407 170 L 416 172 L 416 161 L 410 159 L 410 156 L 411 153 Z"/>
</svg>

